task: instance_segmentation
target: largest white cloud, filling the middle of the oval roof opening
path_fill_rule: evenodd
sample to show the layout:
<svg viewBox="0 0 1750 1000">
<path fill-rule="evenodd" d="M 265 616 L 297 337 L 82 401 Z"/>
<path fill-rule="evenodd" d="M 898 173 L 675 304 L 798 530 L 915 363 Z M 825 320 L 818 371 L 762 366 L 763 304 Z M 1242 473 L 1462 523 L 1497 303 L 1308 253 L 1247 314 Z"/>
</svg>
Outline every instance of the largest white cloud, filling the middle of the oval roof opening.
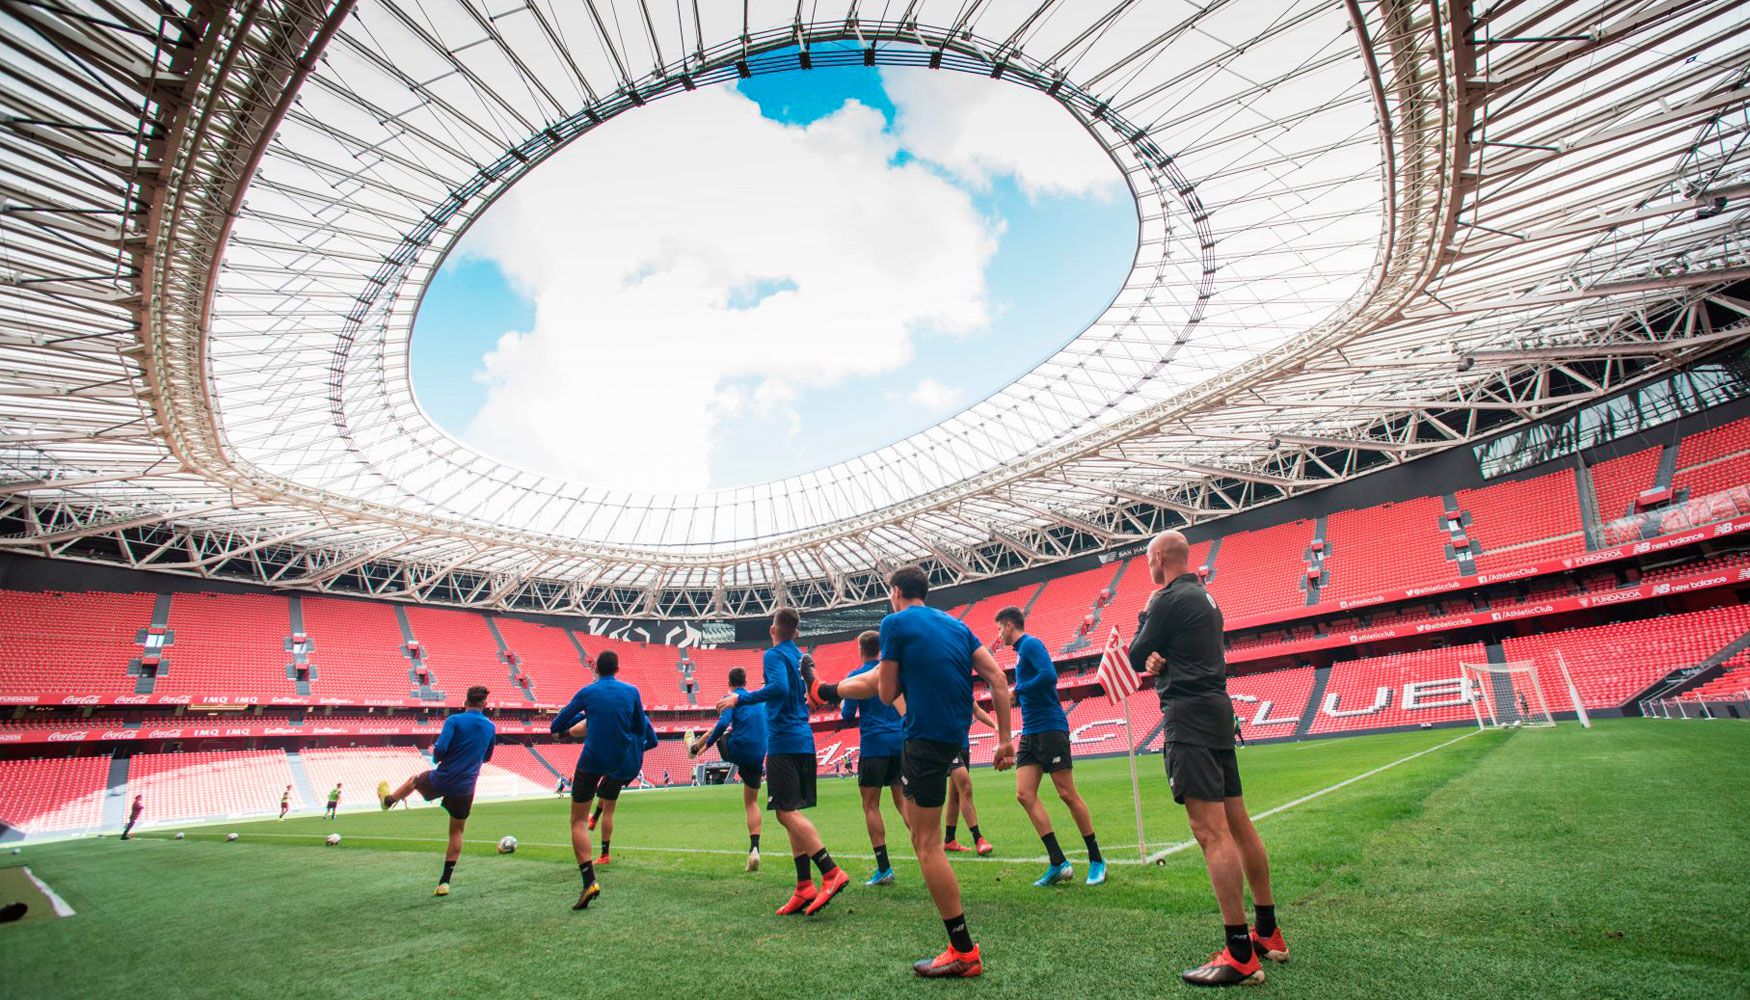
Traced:
<svg viewBox="0 0 1750 1000">
<path fill-rule="evenodd" d="M 723 420 L 793 438 L 800 387 L 894 371 L 919 331 L 984 329 L 999 229 L 933 170 L 894 166 L 884 124 L 852 102 L 784 126 L 718 88 L 534 170 L 466 245 L 536 303 L 534 329 L 483 361 L 469 443 L 581 482 L 700 490 Z"/>
</svg>

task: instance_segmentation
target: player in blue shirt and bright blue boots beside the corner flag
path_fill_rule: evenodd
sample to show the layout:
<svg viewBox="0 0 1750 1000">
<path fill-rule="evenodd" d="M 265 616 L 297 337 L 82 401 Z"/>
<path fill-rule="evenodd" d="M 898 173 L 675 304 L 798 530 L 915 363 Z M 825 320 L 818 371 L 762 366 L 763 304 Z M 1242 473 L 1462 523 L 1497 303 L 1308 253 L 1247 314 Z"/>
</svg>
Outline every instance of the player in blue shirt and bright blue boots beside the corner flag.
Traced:
<svg viewBox="0 0 1750 1000">
<path fill-rule="evenodd" d="M 1003 608 L 996 613 L 998 634 L 1003 643 L 1015 650 L 1015 688 L 1010 692 L 1020 706 L 1020 750 L 1015 753 L 1015 800 L 1032 820 L 1032 830 L 1045 842 L 1045 853 L 1052 867 L 1040 876 L 1036 886 L 1054 886 L 1074 877 L 1069 858 L 1057 846 L 1057 834 L 1052 832 L 1052 814 L 1040 802 L 1040 779 L 1052 776 L 1057 797 L 1069 807 L 1069 818 L 1076 821 L 1082 842 L 1088 849 L 1088 884 L 1097 886 L 1106 881 L 1106 858 L 1099 853 L 1099 839 L 1094 837 L 1094 818 L 1088 816 L 1088 804 L 1076 792 L 1076 778 L 1071 772 L 1074 762 L 1069 755 L 1069 716 L 1057 701 L 1057 667 L 1045 643 L 1027 634 L 1027 618 L 1020 608 Z"/>
</svg>

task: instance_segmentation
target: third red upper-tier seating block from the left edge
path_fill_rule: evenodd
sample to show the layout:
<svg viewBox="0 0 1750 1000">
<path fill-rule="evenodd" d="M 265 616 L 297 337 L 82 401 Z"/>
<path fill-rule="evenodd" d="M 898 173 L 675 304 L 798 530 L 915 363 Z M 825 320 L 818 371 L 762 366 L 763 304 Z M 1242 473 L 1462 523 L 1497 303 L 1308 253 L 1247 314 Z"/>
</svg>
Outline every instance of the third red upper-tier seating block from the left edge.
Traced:
<svg viewBox="0 0 1750 1000">
<path fill-rule="evenodd" d="M 402 653 L 406 646 L 392 606 L 304 597 L 303 608 L 304 634 L 313 644 L 312 692 L 355 699 L 413 695 L 413 660 Z"/>
</svg>

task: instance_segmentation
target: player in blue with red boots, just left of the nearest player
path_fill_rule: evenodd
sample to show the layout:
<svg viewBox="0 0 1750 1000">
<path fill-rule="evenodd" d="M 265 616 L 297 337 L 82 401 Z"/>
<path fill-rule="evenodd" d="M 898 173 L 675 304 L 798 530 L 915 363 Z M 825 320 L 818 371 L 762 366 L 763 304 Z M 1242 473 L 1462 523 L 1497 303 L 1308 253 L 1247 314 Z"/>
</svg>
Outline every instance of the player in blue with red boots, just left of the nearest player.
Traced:
<svg viewBox="0 0 1750 1000">
<path fill-rule="evenodd" d="M 779 916 L 803 912 L 814 916 L 826 909 L 847 884 L 850 876 L 833 863 L 821 834 L 802 814 L 814 807 L 814 783 L 819 762 L 814 757 L 814 729 L 808 727 L 808 692 L 802 678 L 802 651 L 796 648 L 796 629 L 802 618 L 791 608 L 772 615 L 772 648 L 765 651 L 765 683 L 747 694 L 726 694 L 718 711 L 735 706 L 766 706 L 766 809 L 777 813 L 777 821 L 789 835 L 789 853 L 796 862 L 796 891 L 777 909 Z M 808 862 L 821 870 L 821 886 L 808 876 Z"/>
</svg>

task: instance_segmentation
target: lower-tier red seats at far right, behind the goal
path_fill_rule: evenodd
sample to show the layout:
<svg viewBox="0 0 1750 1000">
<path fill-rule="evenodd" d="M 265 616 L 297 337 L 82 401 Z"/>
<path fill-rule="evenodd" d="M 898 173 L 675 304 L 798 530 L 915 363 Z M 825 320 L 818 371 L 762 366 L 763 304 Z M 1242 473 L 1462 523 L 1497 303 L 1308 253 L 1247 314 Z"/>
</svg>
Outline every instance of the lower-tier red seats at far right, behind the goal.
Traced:
<svg viewBox="0 0 1750 1000">
<path fill-rule="evenodd" d="M 1568 664 L 1580 702 L 1615 708 L 1656 680 L 1696 665 L 1750 632 L 1750 606 L 1710 608 L 1642 622 L 1615 622 L 1502 643 L 1508 660 L 1533 660 L 1550 711 L 1573 711 L 1559 662 Z"/>
</svg>

